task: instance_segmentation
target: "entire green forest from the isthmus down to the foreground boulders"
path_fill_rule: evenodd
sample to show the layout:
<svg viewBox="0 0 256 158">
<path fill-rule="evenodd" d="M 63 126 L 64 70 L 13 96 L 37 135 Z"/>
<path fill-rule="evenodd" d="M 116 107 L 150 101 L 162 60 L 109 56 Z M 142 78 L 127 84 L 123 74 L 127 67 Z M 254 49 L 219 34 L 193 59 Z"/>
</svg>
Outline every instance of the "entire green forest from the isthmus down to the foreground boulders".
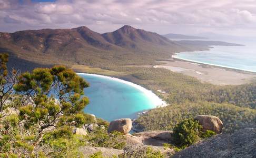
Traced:
<svg viewBox="0 0 256 158">
<path fill-rule="evenodd" d="M 184 118 L 215 115 L 232 133 L 256 123 L 255 83 L 217 86 L 163 68 L 132 67 L 126 80 L 139 83 L 160 95 L 170 105 L 150 110 L 135 122 L 143 130 L 172 130 Z M 163 90 L 166 93 L 159 93 Z"/>
</svg>

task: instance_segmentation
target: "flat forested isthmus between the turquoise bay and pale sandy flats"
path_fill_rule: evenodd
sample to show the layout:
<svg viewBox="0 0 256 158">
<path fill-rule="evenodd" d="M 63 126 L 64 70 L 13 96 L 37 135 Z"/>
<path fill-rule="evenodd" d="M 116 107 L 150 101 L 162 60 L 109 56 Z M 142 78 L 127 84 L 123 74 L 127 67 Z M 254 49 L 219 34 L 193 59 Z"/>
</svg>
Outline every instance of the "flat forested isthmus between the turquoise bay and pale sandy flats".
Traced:
<svg viewBox="0 0 256 158">
<path fill-rule="evenodd" d="M 209 101 L 256 109 L 255 82 L 244 85 L 218 86 L 201 83 L 194 77 L 171 72 L 164 68 L 129 67 L 117 70 L 130 72 L 132 75 L 129 80 L 153 90 L 160 96 L 162 94 L 156 90 L 165 91 L 166 94 L 163 97 L 169 104 Z"/>
</svg>

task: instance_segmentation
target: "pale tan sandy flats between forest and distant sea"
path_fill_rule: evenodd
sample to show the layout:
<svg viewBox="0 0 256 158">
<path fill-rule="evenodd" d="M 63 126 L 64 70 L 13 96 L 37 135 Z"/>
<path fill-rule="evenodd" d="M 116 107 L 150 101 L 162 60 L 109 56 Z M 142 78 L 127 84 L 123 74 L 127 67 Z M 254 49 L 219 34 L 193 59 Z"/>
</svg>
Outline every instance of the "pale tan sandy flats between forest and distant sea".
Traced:
<svg viewBox="0 0 256 158">
<path fill-rule="evenodd" d="M 182 73 L 188 76 L 196 77 L 201 82 L 208 82 L 216 85 L 240 85 L 249 83 L 256 79 L 256 73 L 242 73 L 225 68 L 205 66 L 188 61 L 175 60 L 173 62 L 162 61 L 163 65 L 154 67 L 166 68 L 173 72 Z M 177 69 L 178 67 L 178 69 Z M 178 71 L 176 71 L 178 70 Z"/>
</svg>

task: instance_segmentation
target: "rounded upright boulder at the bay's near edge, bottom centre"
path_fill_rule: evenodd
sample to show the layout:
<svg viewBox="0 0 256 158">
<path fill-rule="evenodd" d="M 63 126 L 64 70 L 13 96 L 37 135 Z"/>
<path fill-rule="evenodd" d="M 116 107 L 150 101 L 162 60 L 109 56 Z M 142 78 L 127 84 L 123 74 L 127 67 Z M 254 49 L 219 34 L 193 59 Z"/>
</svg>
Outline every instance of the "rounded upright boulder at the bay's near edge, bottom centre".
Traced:
<svg viewBox="0 0 256 158">
<path fill-rule="evenodd" d="M 130 118 L 121 118 L 114 120 L 110 123 L 109 129 L 107 132 L 118 131 L 123 134 L 127 134 L 132 129 L 132 120 Z"/>
</svg>

